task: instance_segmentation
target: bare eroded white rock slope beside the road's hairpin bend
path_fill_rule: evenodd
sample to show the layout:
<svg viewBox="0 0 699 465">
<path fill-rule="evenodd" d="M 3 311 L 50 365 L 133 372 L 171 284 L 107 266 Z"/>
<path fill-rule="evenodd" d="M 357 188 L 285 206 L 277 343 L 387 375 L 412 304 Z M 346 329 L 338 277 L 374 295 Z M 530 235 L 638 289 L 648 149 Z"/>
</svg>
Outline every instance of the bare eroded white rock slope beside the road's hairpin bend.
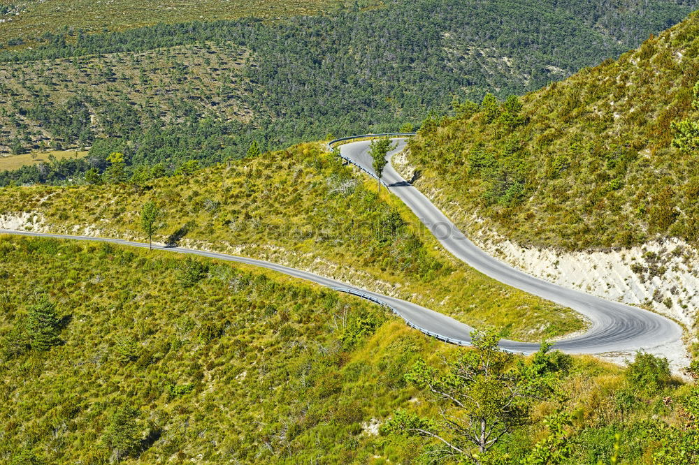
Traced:
<svg viewBox="0 0 699 465">
<path fill-rule="evenodd" d="M 474 239 L 493 256 L 547 281 L 650 307 L 689 328 L 696 321 L 699 253 L 679 239 L 590 252 L 524 248 L 493 232 Z"/>
</svg>

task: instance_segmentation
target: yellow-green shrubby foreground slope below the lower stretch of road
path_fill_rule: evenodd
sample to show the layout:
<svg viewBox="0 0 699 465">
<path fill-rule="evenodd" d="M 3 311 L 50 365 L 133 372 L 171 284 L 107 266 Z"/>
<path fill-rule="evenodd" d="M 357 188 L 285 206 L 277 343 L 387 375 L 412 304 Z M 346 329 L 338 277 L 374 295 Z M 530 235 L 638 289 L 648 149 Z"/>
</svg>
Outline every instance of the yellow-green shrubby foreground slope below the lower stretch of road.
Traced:
<svg viewBox="0 0 699 465">
<path fill-rule="evenodd" d="M 192 262 L 173 253 L 2 236 L 0 257 L 3 462 L 107 463 L 108 425 L 131 406 L 140 463 L 415 463 L 429 441 L 374 436 L 362 424 L 396 409 L 435 415 L 403 374 L 418 357 L 438 365 L 468 350 L 367 302 L 243 265 L 194 258 L 208 271 L 184 288 L 180 270 Z M 8 358 L 9 332 L 38 293 L 64 317 L 64 344 Z M 377 326 L 344 344 L 359 316 Z M 571 464 L 606 463 L 616 432 L 624 462 L 649 464 L 663 444 L 644 440 L 642 425 L 686 422 L 677 401 L 689 387 L 640 394 L 591 357 L 575 357 L 560 388 L 506 441 L 512 463 L 561 407 L 577 412 Z"/>
</svg>

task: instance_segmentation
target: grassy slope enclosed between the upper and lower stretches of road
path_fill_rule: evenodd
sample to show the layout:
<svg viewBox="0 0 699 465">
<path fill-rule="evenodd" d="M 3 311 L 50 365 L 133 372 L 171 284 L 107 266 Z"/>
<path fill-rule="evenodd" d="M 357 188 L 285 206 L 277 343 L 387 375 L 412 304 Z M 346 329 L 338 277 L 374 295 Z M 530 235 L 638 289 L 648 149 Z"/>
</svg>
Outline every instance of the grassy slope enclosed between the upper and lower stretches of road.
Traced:
<svg viewBox="0 0 699 465">
<path fill-rule="evenodd" d="M 164 211 L 158 240 L 190 223 L 182 244 L 314 270 L 412 300 L 475 327 L 540 340 L 583 327 L 574 312 L 502 286 L 457 262 L 405 206 L 307 144 L 233 161 L 188 179 L 132 186 L 0 191 L 0 212 L 34 212 L 43 230 L 135 237 L 140 208 Z M 399 215 L 396 214 L 399 212 Z M 35 228 L 38 226 L 34 226 Z"/>
</svg>

